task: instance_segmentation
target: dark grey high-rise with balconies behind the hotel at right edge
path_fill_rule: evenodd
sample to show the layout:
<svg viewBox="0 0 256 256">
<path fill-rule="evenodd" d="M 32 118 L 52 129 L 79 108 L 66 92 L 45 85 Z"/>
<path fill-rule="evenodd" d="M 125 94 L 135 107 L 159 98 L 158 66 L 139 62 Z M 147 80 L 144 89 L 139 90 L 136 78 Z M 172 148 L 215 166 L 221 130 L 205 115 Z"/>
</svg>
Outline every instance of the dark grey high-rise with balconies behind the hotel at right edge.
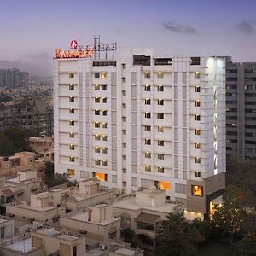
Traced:
<svg viewBox="0 0 256 256">
<path fill-rule="evenodd" d="M 227 155 L 256 160 L 256 62 L 226 57 Z"/>
</svg>

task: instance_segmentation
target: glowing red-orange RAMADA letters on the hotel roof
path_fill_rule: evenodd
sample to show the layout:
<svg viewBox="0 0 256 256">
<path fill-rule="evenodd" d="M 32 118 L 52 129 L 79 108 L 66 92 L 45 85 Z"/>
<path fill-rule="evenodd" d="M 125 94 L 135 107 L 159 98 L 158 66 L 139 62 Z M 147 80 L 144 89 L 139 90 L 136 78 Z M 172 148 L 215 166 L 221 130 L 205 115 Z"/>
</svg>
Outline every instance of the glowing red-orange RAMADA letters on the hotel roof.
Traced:
<svg viewBox="0 0 256 256">
<path fill-rule="evenodd" d="M 92 49 L 61 50 L 55 49 L 55 59 L 67 58 L 92 58 L 94 56 Z"/>
</svg>

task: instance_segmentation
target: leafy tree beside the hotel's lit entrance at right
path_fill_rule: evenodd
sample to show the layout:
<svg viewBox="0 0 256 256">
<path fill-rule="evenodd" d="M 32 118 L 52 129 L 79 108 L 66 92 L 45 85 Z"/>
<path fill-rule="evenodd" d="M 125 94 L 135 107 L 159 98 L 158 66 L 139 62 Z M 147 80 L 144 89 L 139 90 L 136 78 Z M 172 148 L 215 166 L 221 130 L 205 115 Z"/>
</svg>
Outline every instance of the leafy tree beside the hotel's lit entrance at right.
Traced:
<svg viewBox="0 0 256 256">
<path fill-rule="evenodd" d="M 223 205 L 215 209 L 212 217 L 212 223 L 228 234 L 230 245 L 243 222 L 243 196 L 244 192 L 238 186 L 228 186 L 223 195 Z"/>
</svg>

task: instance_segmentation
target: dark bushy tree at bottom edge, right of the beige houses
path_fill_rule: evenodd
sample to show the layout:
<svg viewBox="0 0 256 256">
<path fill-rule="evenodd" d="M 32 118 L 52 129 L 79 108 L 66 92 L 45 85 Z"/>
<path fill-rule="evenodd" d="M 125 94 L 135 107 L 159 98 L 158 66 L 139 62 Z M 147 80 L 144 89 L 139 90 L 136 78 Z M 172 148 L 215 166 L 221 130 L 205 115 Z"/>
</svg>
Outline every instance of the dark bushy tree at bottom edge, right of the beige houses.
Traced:
<svg viewBox="0 0 256 256">
<path fill-rule="evenodd" d="M 199 230 L 187 223 L 182 214 L 170 213 L 157 230 L 154 255 L 195 255 L 197 246 L 204 240 Z"/>
</svg>

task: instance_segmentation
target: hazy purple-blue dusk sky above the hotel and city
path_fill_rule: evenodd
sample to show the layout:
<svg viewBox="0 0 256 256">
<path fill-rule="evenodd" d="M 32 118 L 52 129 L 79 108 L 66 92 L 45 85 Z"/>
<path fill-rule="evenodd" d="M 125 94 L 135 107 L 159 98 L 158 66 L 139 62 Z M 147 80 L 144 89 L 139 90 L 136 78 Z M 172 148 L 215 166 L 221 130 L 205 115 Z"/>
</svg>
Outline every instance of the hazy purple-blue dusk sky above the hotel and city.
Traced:
<svg viewBox="0 0 256 256">
<path fill-rule="evenodd" d="M 0 67 L 51 75 L 71 40 L 256 61 L 256 0 L 0 0 Z"/>
</svg>

